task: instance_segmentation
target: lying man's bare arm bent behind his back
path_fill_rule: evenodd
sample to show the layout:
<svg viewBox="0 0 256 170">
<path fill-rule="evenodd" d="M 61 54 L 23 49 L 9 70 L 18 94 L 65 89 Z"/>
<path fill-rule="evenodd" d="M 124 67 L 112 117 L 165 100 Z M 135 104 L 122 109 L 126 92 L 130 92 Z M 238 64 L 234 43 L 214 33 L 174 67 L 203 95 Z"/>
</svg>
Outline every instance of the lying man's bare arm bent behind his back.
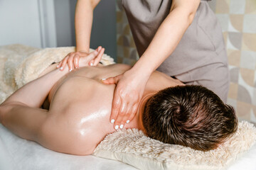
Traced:
<svg viewBox="0 0 256 170">
<path fill-rule="evenodd" d="M 102 57 L 103 52 L 104 49 L 91 52 L 87 59 L 80 61 L 80 64 L 87 66 L 90 60 Z M 55 67 L 53 71 L 15 91 L 0 105 L 0 123 L 16 135 L 38 142 L 38 134 L 49 113 L 48 110 L 41 109 L 41 105 L 53 85 L 67 73 L 68 67 L 63 72 Z"/>
</svg>

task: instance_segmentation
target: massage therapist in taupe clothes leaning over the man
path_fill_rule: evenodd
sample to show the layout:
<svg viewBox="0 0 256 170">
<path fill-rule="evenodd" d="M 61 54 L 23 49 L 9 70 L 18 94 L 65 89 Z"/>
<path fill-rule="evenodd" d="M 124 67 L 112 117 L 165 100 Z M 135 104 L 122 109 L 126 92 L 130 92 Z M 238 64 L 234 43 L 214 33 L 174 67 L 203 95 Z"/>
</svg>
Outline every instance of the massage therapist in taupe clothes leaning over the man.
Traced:
<svg viewBox="0 0 256 170">
<path fill-rule="evenodd" d="M 89 54 L 92 16 L 100 0 L 78 0 L 75 10 L 76 52 L 58 64 L 78 69 Z M 124 74 L 106 77 L 117 84 L 110 122 L 124 128 L 137 111 L 146 82 L 154 70 L 184 84 L 206 86 L 225 102 L 229 74 L 220 25 L 206 0 L 122 0 L 140 59 Z M 95 65 L 91 61 L 90 65 Z M 118 129 L 118 128 L 117 128 Z"/>
</svg>

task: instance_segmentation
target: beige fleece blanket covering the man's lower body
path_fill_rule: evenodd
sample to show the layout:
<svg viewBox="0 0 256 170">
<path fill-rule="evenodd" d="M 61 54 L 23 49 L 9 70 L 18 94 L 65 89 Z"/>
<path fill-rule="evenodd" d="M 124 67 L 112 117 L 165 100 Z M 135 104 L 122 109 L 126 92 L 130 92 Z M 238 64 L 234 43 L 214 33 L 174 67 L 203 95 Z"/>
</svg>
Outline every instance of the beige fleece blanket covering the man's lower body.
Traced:
<svg viewBox="0 0 256 170">
<path fill-rule="evenodd" d="M 60 62 L 75 47 L 39 49 L 26 45 L 0 47 L 0 103 L 16 89 L 36 79 L 53 62 Z M 90 51 L 93 51 L 90 49 Z M 103 55 L 103 65 L 114 64 L 114 60 Z"/>
</svg>

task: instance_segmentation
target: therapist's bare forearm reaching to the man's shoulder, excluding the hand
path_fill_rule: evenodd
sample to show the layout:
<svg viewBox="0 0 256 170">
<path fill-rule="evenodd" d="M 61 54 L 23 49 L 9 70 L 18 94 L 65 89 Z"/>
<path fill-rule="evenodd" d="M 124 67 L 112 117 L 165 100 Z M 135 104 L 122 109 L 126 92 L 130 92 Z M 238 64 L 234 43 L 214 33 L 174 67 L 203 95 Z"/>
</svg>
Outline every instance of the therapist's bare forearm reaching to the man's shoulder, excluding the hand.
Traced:
<svg viewBox="0 0 256 170">
<path fill-rule="evenodd" d="M 174 52 L 183 34 L 192 23 L 195 13 L 196 10 L 191 12 L 184 10 L 183 7 L 174 8 L 161 23 L 149 47 L 133 69 L 146 74 L 154 72 Z"/>
</svg>

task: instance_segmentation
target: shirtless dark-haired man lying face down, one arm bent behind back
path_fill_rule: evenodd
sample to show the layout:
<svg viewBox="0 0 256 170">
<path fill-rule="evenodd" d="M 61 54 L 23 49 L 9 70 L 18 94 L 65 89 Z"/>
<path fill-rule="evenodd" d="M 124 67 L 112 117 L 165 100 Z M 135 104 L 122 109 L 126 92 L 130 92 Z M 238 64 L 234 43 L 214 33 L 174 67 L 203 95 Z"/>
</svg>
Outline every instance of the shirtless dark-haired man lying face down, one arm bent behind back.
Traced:
<svg viewBox="0 0 256 170">
<path fill-rule="evenodd" d="M 102 56 L 102 50 L 80 59 L 80 66 Z M 115 85 L 102 78 L 122 74 L 124 64 L 55 69 L 18 89 L 1 103 L 1 123 L 26 140 L 67 154 L 92 154 L 114 128 L 110 110 Z M 129 86 L 129 84 L 127 84 Z M 41 108 L 44 101 L 49 108 Z M 122 128 L 122 127 L 121 127 Z M 231 106 L 202 86 L 184 86 L 161 72 L 151 74 L 135 117 L 124 128 L 137 128 L 156 140 L 208 151 L 238 128 Z"/>
</svg>

